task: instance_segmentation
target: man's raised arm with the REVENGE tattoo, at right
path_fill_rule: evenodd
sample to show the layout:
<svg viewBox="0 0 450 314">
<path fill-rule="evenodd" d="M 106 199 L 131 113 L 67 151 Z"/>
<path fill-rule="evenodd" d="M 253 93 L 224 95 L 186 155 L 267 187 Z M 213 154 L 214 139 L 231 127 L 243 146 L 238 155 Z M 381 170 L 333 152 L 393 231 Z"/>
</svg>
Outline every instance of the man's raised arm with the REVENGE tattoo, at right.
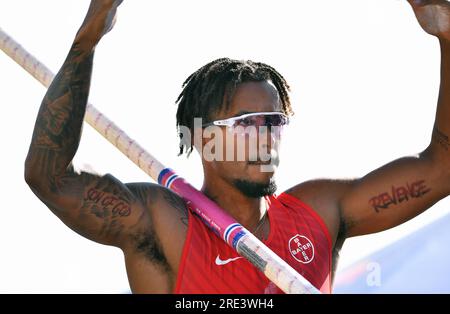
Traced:
<svg viewBox="0 0 450 314">
<path fill-rule="evenodd" d="M 450 3 L 408 0 L 422 28 L 439 38 L 441 86 L 430 145 L 352 181 L 339 199 L 347 237 L 395 227 L 450 194 Z"/>
</svg>

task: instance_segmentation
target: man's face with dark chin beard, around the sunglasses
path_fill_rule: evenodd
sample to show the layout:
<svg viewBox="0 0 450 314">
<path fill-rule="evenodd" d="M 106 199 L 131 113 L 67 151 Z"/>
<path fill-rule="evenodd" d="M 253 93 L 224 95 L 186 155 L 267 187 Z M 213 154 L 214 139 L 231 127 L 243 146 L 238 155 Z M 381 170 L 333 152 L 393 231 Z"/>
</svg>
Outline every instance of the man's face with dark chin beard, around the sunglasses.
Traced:
<svg viewBox="0 0 450 314">
<path fill-rule="evenodd" d="M 278 92 L 269 81 L 240 84 L 231 99 L 228 110 L 216 113 L 212 120 L 258 112 L 282 112 Z M 211 138 L 203 138 L 203 163 L 209 175 L 218 176 L 241 190 L 262 189 L 263 191 L 255 193 L 273 193 L 273 189 L 276 188 L 273 176 L 278 166 L 279 137 L 267 127 L 255 127 L 253 133 L 239 132 L 227 126 L 216 127 L 215 130 L 220 132 L 218 135 L 222 137 L 223 143 L 212 141 L 214 135 Z M 207 146 L 208 142 L 210 146 Z M 219 145 L 216 145 L 214 149 L 208 149 L 212 147 L 212 142 Z M 220 147 L 222 152 L 218 151 Z M 223 155 L 223 158 L 221 160 L 209 158 L 208 161 L 205 159 L 205 153 L 208 151 L 215 153 L 216 157 Z M 270 159 L 267 160 L 268 158 Z M 265 189 L 266 192 L 264 192 Z M 252 192 L 249 193 L 252 194 Z"/>
</svg>

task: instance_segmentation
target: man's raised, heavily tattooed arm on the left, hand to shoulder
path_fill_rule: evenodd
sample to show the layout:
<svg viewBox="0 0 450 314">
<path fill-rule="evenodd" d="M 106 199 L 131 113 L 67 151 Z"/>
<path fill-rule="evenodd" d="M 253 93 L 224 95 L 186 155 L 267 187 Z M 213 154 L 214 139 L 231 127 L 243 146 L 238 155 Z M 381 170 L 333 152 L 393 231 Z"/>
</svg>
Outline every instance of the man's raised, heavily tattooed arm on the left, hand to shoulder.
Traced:
<svg viewBox="0 0 450 314">
<path fill-rule="evenodd" d="M 113 24 L 121 1 L 93 0 L 70 52 L 39 109 L 25 162 L 33 192 L 69 227 L 94 241 L 122 246 L 124 235 L 144 223 L 140 189 L 111 175 L 77 173 L 94 51 Z M 145 216 L 145 215 L 144 215 Z"/>
</svg>

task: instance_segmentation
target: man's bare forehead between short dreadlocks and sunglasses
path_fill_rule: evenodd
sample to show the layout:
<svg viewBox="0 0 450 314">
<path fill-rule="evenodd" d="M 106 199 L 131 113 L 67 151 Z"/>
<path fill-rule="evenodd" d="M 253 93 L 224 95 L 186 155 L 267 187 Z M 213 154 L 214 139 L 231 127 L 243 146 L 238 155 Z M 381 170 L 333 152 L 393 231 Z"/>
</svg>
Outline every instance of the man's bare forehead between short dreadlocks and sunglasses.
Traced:
<svg viewBox="0 0 450 314">
<path fill-rule="evenodd" d="M 271 81 L 245 82 L 238 85 L 228 110 L 223 110 L 218 118 L 265 111 L 281 111 L 276 87 Z"/>
</svg>

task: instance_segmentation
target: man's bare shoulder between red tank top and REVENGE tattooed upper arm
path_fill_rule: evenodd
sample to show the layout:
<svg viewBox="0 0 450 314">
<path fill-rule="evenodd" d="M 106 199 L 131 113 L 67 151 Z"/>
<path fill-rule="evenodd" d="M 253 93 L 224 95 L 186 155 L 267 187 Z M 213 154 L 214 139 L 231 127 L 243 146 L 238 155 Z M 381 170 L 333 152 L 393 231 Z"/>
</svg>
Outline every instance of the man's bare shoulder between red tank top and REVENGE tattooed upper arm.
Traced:
<svg viewBox="0 0 450 314">
<path fill-rule="evenodd" d="M 315 179 L 302 182 L 284 193 L 298 198 L 315 211 L 325 223 L 333 245 L 345 233 L 340 213 L 340 199 L 351 188 L 352 179 Z"/>
</svg>

